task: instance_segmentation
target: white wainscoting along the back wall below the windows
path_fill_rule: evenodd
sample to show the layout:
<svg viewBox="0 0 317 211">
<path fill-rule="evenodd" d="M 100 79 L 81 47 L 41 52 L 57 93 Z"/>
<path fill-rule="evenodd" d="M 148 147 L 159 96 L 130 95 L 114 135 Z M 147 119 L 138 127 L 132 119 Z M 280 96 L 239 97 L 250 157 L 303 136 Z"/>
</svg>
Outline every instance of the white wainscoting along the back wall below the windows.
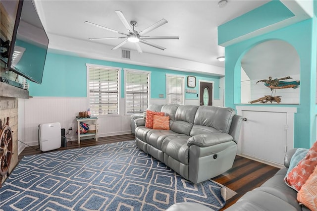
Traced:
<svg viewBox="0 0 317 211">
<path fill-rule="evenodd" d="M 151 99 L 151 104 L 166 104 L 165 99 Z M 215 100 L 215 106 L 223 106 L 222 101 Z M 198 100 L 186 100 L 186 105 L 199 105 Z M 99 116 L 98 137 L 131 133 L 130 115 L 124 110 L 124 99 L 120 99 L 121 115 Z M 86 98 L 65 97 L 33 97 L 19 100 L 19 132 L 18 139 L 30 146 L 38 145 L 38 126 L 43 123 L 59 122 L 61 127 L 72 127 L 68 140 L 77 140 L 77 122 L 75 117 L 79 111 L 87 109 Z M 25 145 L 18 144 L 19 154 Z"/>
</svg>

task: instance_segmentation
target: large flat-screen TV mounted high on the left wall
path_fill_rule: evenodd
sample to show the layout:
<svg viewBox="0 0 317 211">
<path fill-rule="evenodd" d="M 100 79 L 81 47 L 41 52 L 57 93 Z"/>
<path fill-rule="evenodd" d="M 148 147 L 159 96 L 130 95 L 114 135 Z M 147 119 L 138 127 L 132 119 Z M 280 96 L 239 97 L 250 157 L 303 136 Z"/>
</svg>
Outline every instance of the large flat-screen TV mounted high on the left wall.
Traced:
<svg viewBox="0 0 317 211">
<path fill-rule="evenodd" d="M 1 56 L 1 59 L 7 63 L 9 70 L 41 84 L 49 45 L 48 36 L 33 1 L 5 1 L 9 2 L 17 4 L 16 18 L 7 58 Z M 10 11 L 9 7 L 7 12 L 14 13 L 14 9 Z"/>
</svg>

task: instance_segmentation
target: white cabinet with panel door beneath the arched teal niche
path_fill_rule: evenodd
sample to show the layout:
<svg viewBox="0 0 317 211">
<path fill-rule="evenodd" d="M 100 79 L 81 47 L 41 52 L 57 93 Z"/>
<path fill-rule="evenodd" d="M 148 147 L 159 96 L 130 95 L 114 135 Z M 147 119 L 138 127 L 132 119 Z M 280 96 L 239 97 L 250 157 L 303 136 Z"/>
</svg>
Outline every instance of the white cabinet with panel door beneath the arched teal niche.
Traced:
<svg viewBox="0 0 317 211">
<path fill-rule="evenodd" d="M 237 106 L 242 115 L 238 154 L 283 165 L 294 143 L 294 107 Z"/>
</svg>

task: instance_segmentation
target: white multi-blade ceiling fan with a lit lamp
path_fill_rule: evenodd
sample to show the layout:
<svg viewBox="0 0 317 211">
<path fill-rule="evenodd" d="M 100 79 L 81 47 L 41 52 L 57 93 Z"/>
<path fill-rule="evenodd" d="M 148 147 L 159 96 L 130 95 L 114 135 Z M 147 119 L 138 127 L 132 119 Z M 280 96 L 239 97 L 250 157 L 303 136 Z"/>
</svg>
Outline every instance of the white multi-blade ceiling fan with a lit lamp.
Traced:
<svg viewBox="0 0 317 211">
<path fill-rule="evenodd" d="M 121 46 L 123 46 L 125 43 L 127 42 L 131 42 L 134 43 L 136 46 L 136 49 L 139 53 L 142 53 L 142 49 L 139 45 L 140 43 L 144 43 L 146 45 L 158 48 L 160 50 L 165 50 L 166 48 L 161 47 L 157 44 L 151 43 L 147 40 L 161 40 L 161 39 L 179 39 L 179 36 L 144 36 L 146 33 L 149 33 L 151 31 L 153 31 L 154 29 L 160 27 L 161 25 L 167 23 L 167 20 L 165 19 L 161 19 L 160 21 L 156 22 L 155 24 L 149 26 L 148 28 L 144 29 L 141 32 L 137 32 L 136 30 L 134 30 L 134 27 L 137 25 L 137 22 L 132 20 L 129 22 L 127 21 L 127 19 L 124 17 L 123 13 L 121 11 L 116 10 L 115 11 L 117 13 L 117 15 L 119 16 L 120 20 L 122 21 L 123 25 L 125 26 L 125 28 L 128 30 L 128 33 L 123 33 L 123 32 L 119 32 L 110 28 L 107 28 L 105 26 L 101 26 L 95 23 L 91 23 L 89 21 L 85 21 L 85 23 L 88 23 L 90 25 L 102 28 L 102 29 L 106 29 L 108 31 L 111 32 L 115 32 L 118 33 L 120 35 L 124 35 L 122 37 L 105 37 L 105 38 L 89 38 L 89 40 L 111 40 L 111 39 L 124 39 L 123 42 L 119 43 L 118 45 L 116 45 L 115 47 L 113 47 L 111 50 L 116 50 L 118 48 L 120 48 Z"/>
</svg>

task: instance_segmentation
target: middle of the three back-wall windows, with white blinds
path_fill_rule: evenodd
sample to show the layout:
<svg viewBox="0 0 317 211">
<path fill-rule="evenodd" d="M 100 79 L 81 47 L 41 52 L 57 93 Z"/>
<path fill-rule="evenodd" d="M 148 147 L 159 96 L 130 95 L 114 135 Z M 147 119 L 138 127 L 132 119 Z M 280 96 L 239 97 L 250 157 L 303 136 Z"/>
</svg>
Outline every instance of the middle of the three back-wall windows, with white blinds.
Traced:
<svg viewBox="0 0 317 211">
<path fill-rule="evenodd" d="M 126 113 L 143 113 L 149 106 L 149 78 L 145 71 L 125 70 Z"/>
</svg>

